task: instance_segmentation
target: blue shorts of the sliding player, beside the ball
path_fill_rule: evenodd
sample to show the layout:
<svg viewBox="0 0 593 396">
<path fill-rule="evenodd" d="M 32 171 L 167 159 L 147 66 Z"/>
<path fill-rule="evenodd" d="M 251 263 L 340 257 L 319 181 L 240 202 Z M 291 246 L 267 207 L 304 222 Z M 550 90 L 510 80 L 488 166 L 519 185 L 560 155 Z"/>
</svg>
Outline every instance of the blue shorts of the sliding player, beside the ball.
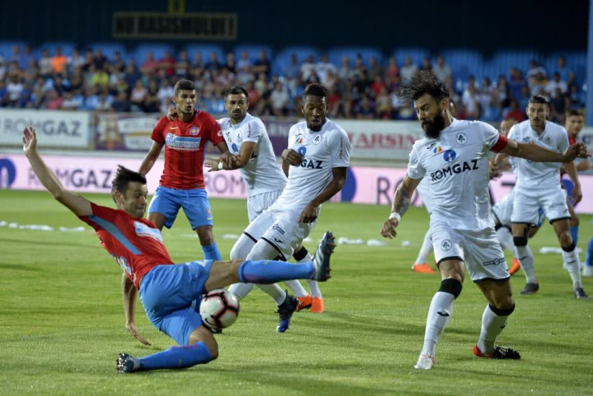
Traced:
<svg viewBox="0 0 593 396">
<path fill-rule="evenodd" d="M 151 269 L 140 285 L 146 317 L 158 330 L 180 345 L 202 325 L 200 301 L 212 260 L 161 265 Z"/>
</svg>

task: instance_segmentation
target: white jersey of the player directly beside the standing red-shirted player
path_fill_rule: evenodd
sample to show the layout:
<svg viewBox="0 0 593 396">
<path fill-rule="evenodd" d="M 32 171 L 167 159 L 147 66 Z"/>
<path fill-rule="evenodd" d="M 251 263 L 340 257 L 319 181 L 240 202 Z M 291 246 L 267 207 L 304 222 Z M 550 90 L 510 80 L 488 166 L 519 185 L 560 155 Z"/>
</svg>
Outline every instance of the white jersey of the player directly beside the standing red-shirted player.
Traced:
<svg viewBox="0 0 593 396">
<path fill-rule="evenodd" d="M 286 175 L 276 161 L 272 142 L 262 120 L 247 113 L 238 124 L 232 125 L 229 118 L 220 119 L 218 123 L 232 154 L 239 154 L 243 142 L 257 144 L 247 165 L 240 169 L 247 196 L 282 190 L 286 184 Z"/>
</svg>

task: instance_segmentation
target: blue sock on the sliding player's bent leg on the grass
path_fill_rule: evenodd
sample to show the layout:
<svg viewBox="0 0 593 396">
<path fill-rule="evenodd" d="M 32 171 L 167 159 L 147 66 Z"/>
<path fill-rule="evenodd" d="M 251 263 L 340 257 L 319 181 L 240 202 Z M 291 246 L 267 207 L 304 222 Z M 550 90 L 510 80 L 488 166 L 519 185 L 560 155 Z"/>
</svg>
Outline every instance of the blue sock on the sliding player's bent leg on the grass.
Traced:
<svg viewBox="0 0 593 396">
<path fill-rule="evenodd" d="M 205 343 L 174 346 L 162 352 L 139 357 L 141 370 L 184 369 L 212 360 Z"/>
</svg>

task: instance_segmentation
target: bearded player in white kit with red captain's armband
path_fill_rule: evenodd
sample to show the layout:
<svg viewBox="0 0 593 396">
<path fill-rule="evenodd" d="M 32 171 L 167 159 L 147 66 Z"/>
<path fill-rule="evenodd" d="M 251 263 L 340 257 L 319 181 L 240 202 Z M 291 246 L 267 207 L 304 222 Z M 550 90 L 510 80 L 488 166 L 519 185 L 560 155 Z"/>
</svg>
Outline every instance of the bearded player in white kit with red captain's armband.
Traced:
<svg viewBox="0 0 593 396">
<path fill-rule="evenodd" d="M 495 346 L 496 337 L 515 309 L 509 272 L 490 215 L 488 192 L 489 151 L 531 161 L 569 162 L 586 157 L 577 143 L 564 153 L 506 139 L 489 124 L 456 120 L 449 113 L 449 91 L 430 72 L 416 72 L 406 93 L 413 100 L 426 138 L 417 140 L 410 153 L 408 173 L 393 198 L 391 215 L 381 229 L 386 238 L 396 236 L 401 216 L 421 180 L 432 192 L 431 237 L 441 270 L 441 288 L 432 298 L 425 340 L 416 369 L 435 363 L 436 343 L 451 318 L 453 302 L 461 293 L 467 266 L 488 301 L 474 355 L 519 359 L 516 350 Z"/>
</svg>

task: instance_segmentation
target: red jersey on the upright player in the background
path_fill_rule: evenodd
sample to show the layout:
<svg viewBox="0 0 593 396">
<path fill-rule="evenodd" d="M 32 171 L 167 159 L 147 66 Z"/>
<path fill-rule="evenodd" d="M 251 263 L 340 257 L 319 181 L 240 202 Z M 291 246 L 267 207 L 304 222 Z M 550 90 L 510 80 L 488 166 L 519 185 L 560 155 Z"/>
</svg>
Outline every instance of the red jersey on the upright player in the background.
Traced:
<svg viewBox="0 0 593 396">
<path fill-rule="evenodd" d="M 206 143 L 224 142 L 221 127 L 214 117 L 196 110 L 192 120 L 158 120 L 152 131 L 152 140 L 165 144 L 165 169 L 161 186 L 170 189 L 191 190 L 204 188 L 204 153 Z"/>
</svg>

